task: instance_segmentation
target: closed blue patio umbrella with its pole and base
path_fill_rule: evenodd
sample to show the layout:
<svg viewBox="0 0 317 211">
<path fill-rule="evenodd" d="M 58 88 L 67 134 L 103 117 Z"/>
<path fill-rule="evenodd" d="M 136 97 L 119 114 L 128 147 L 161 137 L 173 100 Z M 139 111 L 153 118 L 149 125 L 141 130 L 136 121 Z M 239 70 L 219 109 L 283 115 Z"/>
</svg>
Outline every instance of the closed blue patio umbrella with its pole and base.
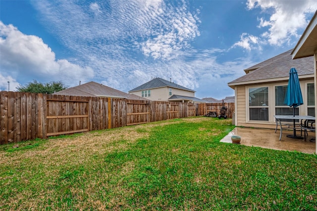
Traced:
<svg viewBox="0 0 317 211">
<path fill-rule="evenodd" d="M 295 108 L 297 106 L 303 105 L 303 96 L 302 96 L 302 90 L 301 86 L 299 84 L 299 79 L 297 75 L 297 71 L 294 67 L 291 68 L 289 71 L 289 80 L 288 80 L 288 86 L 286 90 L 285 95 L 285 101 L 286 105 L 289 107 L 293 107 L 293 116 L 295 117 Z M 299 138 L 300 136 L 296 136 L 296 129 L 295 129 L 295 120 L 294 120 L 294 135 L 288 135 L 288 137 L 292 138 Z M 301 138 L 301 137 L 300 137 Z"/>
</svg>

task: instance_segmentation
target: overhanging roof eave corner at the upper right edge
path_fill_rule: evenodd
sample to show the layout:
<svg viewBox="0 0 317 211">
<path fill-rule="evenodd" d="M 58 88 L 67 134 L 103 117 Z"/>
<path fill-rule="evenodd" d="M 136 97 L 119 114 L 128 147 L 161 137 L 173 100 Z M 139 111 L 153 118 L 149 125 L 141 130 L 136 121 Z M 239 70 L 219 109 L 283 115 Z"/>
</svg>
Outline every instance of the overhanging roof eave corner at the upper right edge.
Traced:
<svg viewBox="0 0 317 211">
<path fill-rule="evenodd" d="M 317 10 L 297 42 L 292 55 L 293 59 L 313 56 L 317 51 Z"/>
</svg>

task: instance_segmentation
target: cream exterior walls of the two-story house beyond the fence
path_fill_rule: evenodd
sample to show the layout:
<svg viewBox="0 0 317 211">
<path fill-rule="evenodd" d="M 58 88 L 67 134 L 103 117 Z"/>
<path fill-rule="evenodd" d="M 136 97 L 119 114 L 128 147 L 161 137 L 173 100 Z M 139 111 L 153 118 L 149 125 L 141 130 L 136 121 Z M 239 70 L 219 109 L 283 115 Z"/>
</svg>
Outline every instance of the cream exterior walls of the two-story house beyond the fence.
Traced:
<svg viewBox="0 0 317 211">
<path fill-rule="evenodd" d="M 151 88 L 147 90 L 151 90 L 151 97 L 144 97 L 153 101 L 167 101 L 172 95 L 169 95 L 169 88 L 172 88 L 172 95 L 183 95 L 189 97 L 195 97 L 195 92 L 186 91 L 183 89 L 173 88 L 173 87 L 159 87 L 159 88 Z M 140 91 L 130 91 L 130 94 L 135 94 L 142 97 L 142 90 Z"/>
</svg>

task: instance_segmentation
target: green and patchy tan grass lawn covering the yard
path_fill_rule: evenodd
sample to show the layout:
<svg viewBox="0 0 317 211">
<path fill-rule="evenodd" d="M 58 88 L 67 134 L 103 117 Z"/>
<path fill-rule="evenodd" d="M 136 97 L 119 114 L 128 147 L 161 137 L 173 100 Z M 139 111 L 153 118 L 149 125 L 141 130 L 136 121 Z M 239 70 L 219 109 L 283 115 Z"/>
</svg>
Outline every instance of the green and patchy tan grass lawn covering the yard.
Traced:
<svg viewBox="0 0 317 211">
<path fill-rule="evenodd" d="M 317 156 L 185 118 L 0 146 L 0 210 L 317 210 Z"/>
</svg>

